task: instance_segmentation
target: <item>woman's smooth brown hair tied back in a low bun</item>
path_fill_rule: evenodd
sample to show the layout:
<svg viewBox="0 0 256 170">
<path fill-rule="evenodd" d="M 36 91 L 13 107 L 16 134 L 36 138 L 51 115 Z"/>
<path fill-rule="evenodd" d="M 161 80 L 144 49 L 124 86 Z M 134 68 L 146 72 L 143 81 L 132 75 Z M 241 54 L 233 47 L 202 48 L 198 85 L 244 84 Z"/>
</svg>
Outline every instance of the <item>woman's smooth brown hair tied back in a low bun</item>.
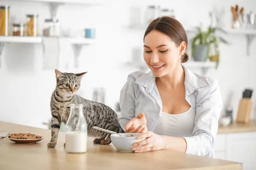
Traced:
<svg viewBox="0 0 256 170">
<path fill-rule="evenodd" d="M 181 23 L 175 18 L 159 17 L 153 20 L 145 31 L 143 41 L 145 40 L 146 35 L 153 30 L 166 34 L 172 39 L 173 42 L 175 42 L 177 46 L 180 46 L 180 43 L 183 41 L 186 43 L 186 47 L 188 45 L 188 37 L 186 35 L 186 31 Z M 181 57 L 181 62 L 186 62 L 188 59 L 189 55 L 185 52 Z"/>
</svg>

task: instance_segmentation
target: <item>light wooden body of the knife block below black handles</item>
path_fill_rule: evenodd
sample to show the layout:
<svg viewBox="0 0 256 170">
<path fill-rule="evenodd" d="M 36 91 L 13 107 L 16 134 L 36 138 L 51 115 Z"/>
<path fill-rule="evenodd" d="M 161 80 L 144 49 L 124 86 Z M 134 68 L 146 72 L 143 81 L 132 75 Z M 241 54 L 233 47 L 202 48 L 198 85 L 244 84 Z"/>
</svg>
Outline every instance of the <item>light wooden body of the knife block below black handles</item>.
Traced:
<svg viewBox="0 0 256 170">
<path fill-rule="evenodd" d="M 250 122 L 250 113 L 252 109 L 252 101 L 250 98 L 243 98 L 239 102 L 238 113 L 236 117 L 237 123 L 247 124 Z"/>
</svg>

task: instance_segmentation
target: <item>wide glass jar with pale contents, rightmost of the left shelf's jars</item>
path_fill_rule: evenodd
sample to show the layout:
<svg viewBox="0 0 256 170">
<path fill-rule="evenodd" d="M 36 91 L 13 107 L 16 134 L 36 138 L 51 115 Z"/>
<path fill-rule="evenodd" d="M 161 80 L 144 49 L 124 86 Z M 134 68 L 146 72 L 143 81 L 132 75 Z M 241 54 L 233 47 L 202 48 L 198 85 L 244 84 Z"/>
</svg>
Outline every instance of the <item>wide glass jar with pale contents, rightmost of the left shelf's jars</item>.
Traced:
<svg viewBox="0 0 256 170">
<path fill-rule="evenodd" d="M 44 20 L 43 36 L 59 37 L 60 36 L 60 23 L 58 19 Z"/>
</svg>

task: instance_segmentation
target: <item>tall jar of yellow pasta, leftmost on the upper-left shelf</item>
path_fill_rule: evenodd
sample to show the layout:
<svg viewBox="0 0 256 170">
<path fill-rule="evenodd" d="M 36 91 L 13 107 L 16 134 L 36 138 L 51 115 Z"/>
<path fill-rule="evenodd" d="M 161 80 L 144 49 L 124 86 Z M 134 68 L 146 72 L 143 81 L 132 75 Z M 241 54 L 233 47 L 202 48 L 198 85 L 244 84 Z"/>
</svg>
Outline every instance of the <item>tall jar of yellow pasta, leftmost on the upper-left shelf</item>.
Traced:
<svg viewBox="0 0 256 170">
<path fill-rule="evenodd" d="M 9 36 L 10 6 L 0 6 L 0 35 Z"/>
</svg>

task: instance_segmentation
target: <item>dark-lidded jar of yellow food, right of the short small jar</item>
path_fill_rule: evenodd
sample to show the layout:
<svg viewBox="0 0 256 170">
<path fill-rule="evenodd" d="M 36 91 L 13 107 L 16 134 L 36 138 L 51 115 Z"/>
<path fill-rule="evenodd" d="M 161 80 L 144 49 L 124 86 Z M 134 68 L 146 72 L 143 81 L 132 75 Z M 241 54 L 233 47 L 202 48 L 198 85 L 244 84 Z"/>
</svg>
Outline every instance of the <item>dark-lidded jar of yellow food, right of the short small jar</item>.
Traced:
<svg viewBox="0 0 256 170">
<path fill-rule="evenodd" d="M 38 36 L 38 14 L 27 14 L 27 36 Z"/>
</svg>

